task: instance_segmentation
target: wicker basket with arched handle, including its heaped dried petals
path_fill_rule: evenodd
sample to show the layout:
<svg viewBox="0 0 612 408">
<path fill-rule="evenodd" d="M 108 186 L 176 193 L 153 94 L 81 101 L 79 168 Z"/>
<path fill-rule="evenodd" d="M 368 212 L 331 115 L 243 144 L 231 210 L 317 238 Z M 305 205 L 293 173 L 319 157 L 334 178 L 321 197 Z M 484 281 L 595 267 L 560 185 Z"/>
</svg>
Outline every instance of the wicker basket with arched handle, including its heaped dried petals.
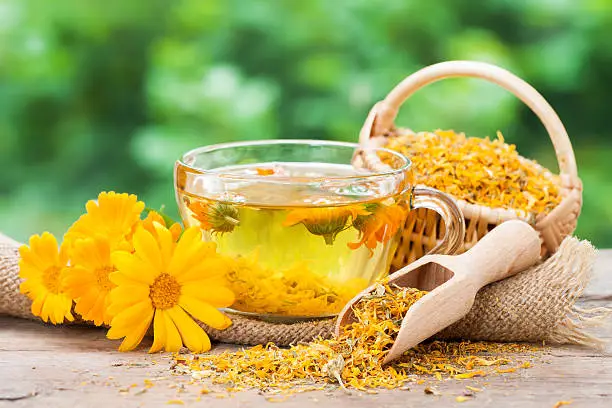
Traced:
<svg viewBox="0 0 612 408">
<path fill-rule="evenodd" d="M 449 131 L 415 133 L 394 125 L 398 109 L 414 92 L 449 77 L 493 82 L 529 106 L 552 140 L 560 175 L 521 157 L 501 135 L 497 140 L 478 139 Z M 374 105 L 359 140 L 365 146 L 386 146 L 407 154 L 421 177 L 417 183 L 437 188 L 457 200 L 466 224 L 465 243 L 460 251 L 512 219 L 526 221 L 539 231 L 543 254 L 555 252 L 576 228 L 582 207 L 582 183 L 563 123 L 542 95 L 502 68 L 482 62 L 448 61 L 415 72 Z M 392 267 L 401 268 L 423 256 L 435 248 L 444 234 L 437 214 L 424 209 L 412 211 L 404 224 Z"/>
</svg>

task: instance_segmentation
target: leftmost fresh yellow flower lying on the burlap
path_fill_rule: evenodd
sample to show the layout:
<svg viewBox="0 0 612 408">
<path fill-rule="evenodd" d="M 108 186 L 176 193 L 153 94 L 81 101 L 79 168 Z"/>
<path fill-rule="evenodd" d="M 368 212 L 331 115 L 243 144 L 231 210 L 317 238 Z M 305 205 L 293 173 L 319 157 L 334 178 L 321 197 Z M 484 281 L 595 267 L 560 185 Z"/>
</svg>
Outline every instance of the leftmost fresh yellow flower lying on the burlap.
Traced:
<svg viewBox="0 0 612 408">
<path fill-rule="evenodd" d="M 33 235 L 30 246 L 19 248 L 21 293 L 32 300 L 32 314 L 53 324 L 72 321 L 72 299 L 62 292 L 61 275 L 68 264 L 65 245 L 58 248 L 55 237 L 45 232 Z"/>
</svg>

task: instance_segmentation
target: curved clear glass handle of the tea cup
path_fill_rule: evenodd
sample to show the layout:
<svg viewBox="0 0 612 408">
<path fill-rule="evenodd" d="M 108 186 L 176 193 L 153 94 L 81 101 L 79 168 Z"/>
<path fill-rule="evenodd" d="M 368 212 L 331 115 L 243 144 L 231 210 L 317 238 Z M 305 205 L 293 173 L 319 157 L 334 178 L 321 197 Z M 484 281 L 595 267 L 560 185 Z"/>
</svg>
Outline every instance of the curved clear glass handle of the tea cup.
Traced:
<svg viewBox="0 0 612 408">
<path fill-rule="evenodd" d="M 463 246 L 465 220 L 455 200 L 434 188 L 418 186 L 412 189 L 410 200 L 410 210 L 417 208 L 433 210 L 440 214 L 444 221 L 444 238 L 428 254 L 456 254 Z"/>
</svg>

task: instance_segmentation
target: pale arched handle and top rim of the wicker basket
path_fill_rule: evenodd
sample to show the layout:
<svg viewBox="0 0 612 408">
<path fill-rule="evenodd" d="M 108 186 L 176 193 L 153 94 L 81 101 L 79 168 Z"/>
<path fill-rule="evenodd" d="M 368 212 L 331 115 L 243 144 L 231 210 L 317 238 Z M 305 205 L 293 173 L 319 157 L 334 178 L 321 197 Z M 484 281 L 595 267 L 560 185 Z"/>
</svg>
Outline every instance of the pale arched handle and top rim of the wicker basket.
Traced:
<svg viewBox="0 0 612 408">
<path fill-rule="evenodd" d="M 568 221 L 573 224 L 573 227 L 570 227 L 573 231 L 582 207 L 582 181 L 578 177 L 576 158 L 567 130 L 552 106 L 535 88 L 503 68 L 478 61 L 445 61 L 414 72 L 397 84 L 383 100 L 374 104 L 359 132 L 359 143 L 363 146 L 383 146 L 388 137 L 393 137 L 405 129 L 398 128 L 395 119 L 400 107 L 410 96 L 429 84 L 453 77 L 479 78 L 495 83 L 525 103 L 544 125 L 559 164 L 557 177 L 560 180 L 561 201 L 550 210 L 526 212 L 514 208 L 488 207 L 468 203 L 449 194 L 464 212 L 464 218 L 482 218 L 492 224 L 510 219 L 522 219 L 534 224 L 537 221 L 539 225 L 551 225 L 550 231 L 545 234 L 549 239 L 555 234 L 565 232 L 568 229 Z M 519 157 L 528 160 L 520 154 Z M 545 170 L 546 177 L 548 173 L 553 174 L 539 163 L 535 162 L 535 165 L 538 169 Z M 557 225 L 552 227 L 552 224 Z"/>
</svg>

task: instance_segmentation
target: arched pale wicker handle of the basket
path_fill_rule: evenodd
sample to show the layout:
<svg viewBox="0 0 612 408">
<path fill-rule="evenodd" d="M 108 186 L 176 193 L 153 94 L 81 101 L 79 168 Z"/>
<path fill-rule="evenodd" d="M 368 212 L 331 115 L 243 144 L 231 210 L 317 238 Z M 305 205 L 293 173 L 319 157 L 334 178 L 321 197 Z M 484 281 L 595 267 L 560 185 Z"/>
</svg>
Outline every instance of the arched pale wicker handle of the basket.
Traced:
<svg viewBox="0 0 612 408">
<path fill-rule="evenodd" d="M 387 97 L 378 102 L 368 115 L 359 134 L 362 145 L 372 143 L 373 136 L 383 136 L 394 127 L 397 112 L 412 94 L 425 85 L 450 77 L 482 78 L 512 92 L 540 118 L 552 140 L 562 175 L 571 182 L 578 180 L 578 169 L 572 143 L 559 116 L 538 91 L 521 78 L 495 65 L 476 61 L 446 61 L 425 67 L 400 82 Z"/>
</svg>

